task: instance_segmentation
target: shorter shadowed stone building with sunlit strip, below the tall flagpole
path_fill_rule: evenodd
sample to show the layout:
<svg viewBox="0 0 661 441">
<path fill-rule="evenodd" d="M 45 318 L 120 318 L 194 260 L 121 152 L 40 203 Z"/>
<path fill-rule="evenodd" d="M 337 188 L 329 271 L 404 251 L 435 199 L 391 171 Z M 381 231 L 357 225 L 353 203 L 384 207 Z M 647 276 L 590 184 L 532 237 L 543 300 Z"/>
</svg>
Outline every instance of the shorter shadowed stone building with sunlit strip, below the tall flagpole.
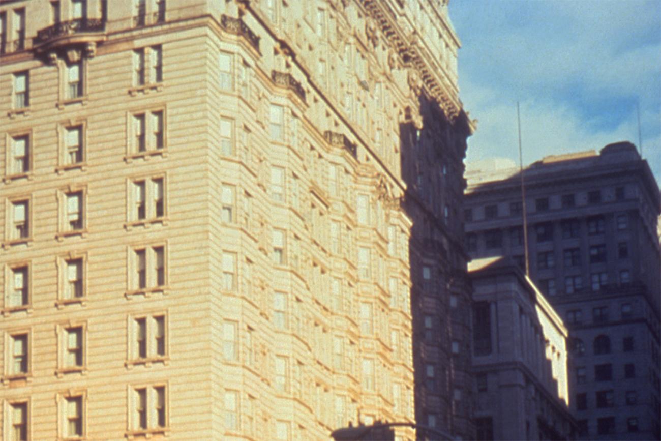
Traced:
<svg viewBox="0 0 661 441">
<path fill-rule="evenodd" d="M 510 259 L 469 269 L 476 439 L 573 439 L 563 321 Z"/>
</svg>

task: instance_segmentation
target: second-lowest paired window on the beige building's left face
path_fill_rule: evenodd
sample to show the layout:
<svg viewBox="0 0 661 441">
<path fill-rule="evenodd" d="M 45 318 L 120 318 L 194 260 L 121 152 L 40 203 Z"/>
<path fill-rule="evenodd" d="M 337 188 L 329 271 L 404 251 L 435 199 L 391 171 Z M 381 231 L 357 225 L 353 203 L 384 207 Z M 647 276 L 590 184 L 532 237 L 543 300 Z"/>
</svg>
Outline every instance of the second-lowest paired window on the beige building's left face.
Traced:
<svg viewBox="0 0 661 441">
<path fill-rule="evenodd" d="M 132 364 L 162 360 L 167 354 L 167 320 L 165 314 L 142 315 L 131 321 Z"/>
</svg>

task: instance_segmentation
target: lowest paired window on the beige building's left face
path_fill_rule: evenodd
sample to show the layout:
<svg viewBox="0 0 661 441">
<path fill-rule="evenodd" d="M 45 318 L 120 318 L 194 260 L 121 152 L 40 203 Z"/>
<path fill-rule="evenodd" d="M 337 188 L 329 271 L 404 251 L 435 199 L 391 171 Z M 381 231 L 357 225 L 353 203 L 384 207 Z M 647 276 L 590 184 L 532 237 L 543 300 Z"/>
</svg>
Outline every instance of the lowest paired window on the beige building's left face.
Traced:
<svg viewBox="0 0 661 441">
<path fill-rule="evenodd" d="M 134 387 L 132 391 L 132 433 L 162 432 L 167 427 L 165 385 Z"/>
</svg>

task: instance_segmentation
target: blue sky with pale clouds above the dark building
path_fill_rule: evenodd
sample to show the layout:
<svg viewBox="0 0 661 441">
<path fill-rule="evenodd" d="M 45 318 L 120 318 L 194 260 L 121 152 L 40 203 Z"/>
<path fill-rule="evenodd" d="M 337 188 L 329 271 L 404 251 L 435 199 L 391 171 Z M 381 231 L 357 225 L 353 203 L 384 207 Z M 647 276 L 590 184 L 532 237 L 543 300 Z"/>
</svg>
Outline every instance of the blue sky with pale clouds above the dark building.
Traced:
<svg viewBox="0 0 661 441">
<path fill-rule="evenodd" d="M 450 0 L 467 162 L 518 164 L 629 140 L 661 184 L 661 0 Z"/>
</svg>

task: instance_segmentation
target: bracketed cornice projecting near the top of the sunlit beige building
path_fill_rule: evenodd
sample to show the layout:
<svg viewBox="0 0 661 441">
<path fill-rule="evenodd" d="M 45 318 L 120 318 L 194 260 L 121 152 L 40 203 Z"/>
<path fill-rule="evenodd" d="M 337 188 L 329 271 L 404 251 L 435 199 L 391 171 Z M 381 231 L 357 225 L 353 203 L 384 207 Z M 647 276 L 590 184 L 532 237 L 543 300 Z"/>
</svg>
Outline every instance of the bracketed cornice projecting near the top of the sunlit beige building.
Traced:
<svg viewBox="0 0 661 441">
<path fill-rule="evenodd" d="M 409 77 L 419 77 L 420 89 L 426 93 L 442 108 L 447 118 L 454 122 L 457 116 L 464 114 L 459 101 L 459 93 L 449 79 L 440 75 L 441 69 L 432 65 L 432 57 L 418 44 L 417 38 L 405 35 L 404 30 L 396 22 L 397 14 L 391 11 L 387 2 L 379 0 L 360 0 L 371 18 L 377 22 L 383 36 L 397 51 L 397 56 L 403 65 L 414 69 L 415 73 Z M 415 34 L 413 34 L 415 35 Z M 410 39 L 410 40 L 409 40 Z M 409 81 L 410 82 L 410 81 Z"/>
</svg>

